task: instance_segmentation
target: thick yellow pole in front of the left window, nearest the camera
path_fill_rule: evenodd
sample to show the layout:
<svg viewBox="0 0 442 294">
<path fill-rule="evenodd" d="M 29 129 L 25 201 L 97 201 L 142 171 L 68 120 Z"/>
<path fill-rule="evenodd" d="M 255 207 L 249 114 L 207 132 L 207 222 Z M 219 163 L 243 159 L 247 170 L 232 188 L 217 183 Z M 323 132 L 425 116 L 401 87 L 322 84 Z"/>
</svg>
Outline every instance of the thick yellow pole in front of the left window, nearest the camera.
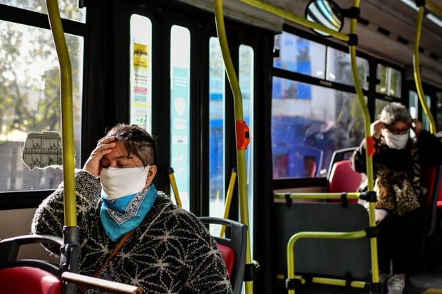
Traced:
<svg viewBox="0 0 442 294">
<path fill-rule="evenodd" d="M 49 23 L 60 63 L 61 142 L 63 146 L 64 221 L 68 227 L 77 226 L 75 194 L 75 152 L 73 141 L 72 71 L 64 38 L 57 0 L 47 0 Z"/>
</svg>

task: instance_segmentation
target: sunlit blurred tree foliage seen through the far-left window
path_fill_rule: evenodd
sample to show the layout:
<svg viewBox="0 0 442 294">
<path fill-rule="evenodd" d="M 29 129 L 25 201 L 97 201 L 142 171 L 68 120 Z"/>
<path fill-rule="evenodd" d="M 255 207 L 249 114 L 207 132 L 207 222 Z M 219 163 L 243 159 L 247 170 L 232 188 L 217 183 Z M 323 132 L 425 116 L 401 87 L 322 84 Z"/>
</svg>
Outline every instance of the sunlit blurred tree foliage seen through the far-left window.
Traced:
<svg viewBox="0 0 442 294">
<path fill-rule="evenodd" d="M 14 2 L 14 3 L 13 3 Z M 9 1 L 24 9 L 46 12 L 46 1 Z M 70 19 L 76 3 L 61 3 Z M 73 73 L 74 112 L 81 105 L 81 39 L 66 35 Z M 0 21 L 0 135 L 14 131 L 61 131 L 59 64 L 51 31 Z M 78 115 L 79 116 L 79 115 Z"/>
</svg>

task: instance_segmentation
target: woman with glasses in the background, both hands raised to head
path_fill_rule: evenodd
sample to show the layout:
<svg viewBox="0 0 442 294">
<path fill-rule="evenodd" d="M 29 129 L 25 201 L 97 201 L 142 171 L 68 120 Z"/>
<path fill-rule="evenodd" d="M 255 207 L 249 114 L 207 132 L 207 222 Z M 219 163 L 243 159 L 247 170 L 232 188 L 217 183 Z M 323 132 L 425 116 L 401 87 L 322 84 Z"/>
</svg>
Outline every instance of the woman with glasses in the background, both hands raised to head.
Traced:
<svg viewBox="0 0 442 294">
<path fill-rule="evenodd" d="M 410 128 L 416 134 L 413 139 Z M 442 164 L 442 143 L 423 130 L 420 121 L 412 120 L 400 103 L 384 107 L 371 124 L 371 137 L 376 142 L 373 169 L 379 269 L 391 274 L 389 293 L 400 294 L 406 277 L 423 270 L 427 189 L 421 184 L 421 167 Z M 356 172 L 366 172 L 366 140 L 351 157 L 351 166 Z M 365 189 L 366 183 L 360 190 Z"/>
</svg>

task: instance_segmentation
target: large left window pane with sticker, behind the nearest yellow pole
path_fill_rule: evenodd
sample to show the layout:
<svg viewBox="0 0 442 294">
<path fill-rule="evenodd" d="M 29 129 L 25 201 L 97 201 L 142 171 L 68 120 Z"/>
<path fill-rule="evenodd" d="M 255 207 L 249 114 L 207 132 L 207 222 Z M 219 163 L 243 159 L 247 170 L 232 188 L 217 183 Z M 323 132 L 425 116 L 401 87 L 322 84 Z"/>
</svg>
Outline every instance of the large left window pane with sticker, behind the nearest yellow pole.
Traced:
<svg viewBox="0 0 442 294">
<path fill-rule="evenodd" d="M 76 167 L 81 162 L 83 38 L 65 35 L 71 58 Z M 51 31 L 0 21 L 0 191 L 54 189 L 61 169 L 29 170 L 22 161 L 26 135 L 61 134 L 60 76 Z M 38 154 L 34 162 L 38 162 Z M 43 154 L 40 152 L 40 161 Z"/>
</svg>

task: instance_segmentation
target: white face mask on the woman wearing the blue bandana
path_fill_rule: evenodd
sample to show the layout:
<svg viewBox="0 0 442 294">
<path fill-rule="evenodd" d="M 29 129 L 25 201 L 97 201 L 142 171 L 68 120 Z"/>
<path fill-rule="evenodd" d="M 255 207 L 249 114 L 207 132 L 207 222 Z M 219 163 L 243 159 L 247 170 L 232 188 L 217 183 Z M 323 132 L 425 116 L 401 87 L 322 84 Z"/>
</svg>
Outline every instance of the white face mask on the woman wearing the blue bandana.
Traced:
<svg viewBox="0 0 442 294">
<path fill-rule="evenodd" d="M 117 169 L 101 169 L 100 182 L 103 194 L 113 200 L 143 191 L 148 178 L 149 166 Z"/>
</svg>

